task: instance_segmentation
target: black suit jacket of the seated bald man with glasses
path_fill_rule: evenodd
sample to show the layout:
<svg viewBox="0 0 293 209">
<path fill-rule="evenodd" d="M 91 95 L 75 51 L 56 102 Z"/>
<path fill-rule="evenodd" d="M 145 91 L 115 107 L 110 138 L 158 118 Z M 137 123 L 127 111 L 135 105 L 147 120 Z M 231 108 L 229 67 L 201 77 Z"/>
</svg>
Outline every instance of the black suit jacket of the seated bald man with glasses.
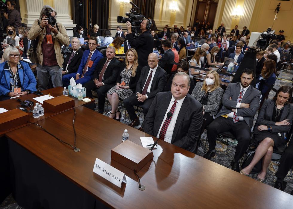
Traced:
<svg viewBox="0 0 293 209">
<path fill-rule="evenodd" d="M 147 76 L 149 74 L 149 70 L 150 70 L 149 66 L 145 66 L 141 68 L 141 76 L 138 79 L 135 93 L 142 92 L 144 84 L 146 83 L 146 80 L 148 78 Z M 167 82 L 167 73 L 164 69 L 158 66 L 155 72 L 154 78 L 152 80 L 150 92 L 146 92 L 146 95 L 149 97 L 149 99 L 155 97 L 158 92 L 163 91 L 166 82 Z"/>
</svg>

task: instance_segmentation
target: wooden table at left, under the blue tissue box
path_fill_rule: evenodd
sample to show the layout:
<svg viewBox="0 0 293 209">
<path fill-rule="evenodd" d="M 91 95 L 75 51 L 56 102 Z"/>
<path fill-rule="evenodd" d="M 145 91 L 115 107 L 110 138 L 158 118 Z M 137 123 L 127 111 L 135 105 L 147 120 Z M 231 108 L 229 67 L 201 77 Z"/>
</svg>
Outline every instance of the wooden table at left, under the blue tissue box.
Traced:
<svg viewBox="0 0 293 209">
<path fill-rule="evenodd" d="M 33 98 L 46 95 L 46 94 L 48 94 L 48 92 L 50 92 L 51 96 L 58 97 L 58 96 L 63 95 L 63 88 L 62 87 L 57 87 L 57 88 L 53 88 L 53 89 L 44 90 L 44 91 L 42 91 L 42 93 L 43 93 L 42 95 L 27 94 L 27 95 L 22 96 L 22 97 L 16 97 L 15 99 L 4 100 L 4 101 L 0 102 L 0 107 L 2 107 L 4 109 L 7 109 L 7 110 L 16 109 L 17 107 L 20 106 L 20 102 L 18 100 L 16 100 L 16 99 L 33 101 L 34 106 L 35 106 L 35 103 L 38 102 L 38 101 L 34 100 Z M 75 98 L 73 96 L 70 96 L 70 95 L 68 95 L 68 97 L 71 97 L 71 98 L 74 99 L 75 107 L 78 107 L 78 106 L 81 106 L 81 105 L 88 106 L 88 105 L 94 104 L 94 100 L 89 98 L 89 97 L 87 97 L 87 98 L 91 99 L 91 101 L 88 102 L 88 103 L 86 103 L 84 101 L 80 101 L 77 98 Z M 33 106 L 31 108 L 33 109 Z M 27 108 L 27 109 L 29 110 L 29 108 Z M 46 110 L 46 109 L 44 111 L 45 111 L 45 115 L 40 116 L 39 118 L 33 118 L 33 113 L 32 112 L 27 112 L 27 113 L 30 114 L 29 122 L 35 123 L 36 121 L 43 120 L 45 118 L 51 117 L 52 115 L 58 114 L 58 113 L 55 113 L 55 112 L 52 112 L 52 111 Z M 27 124 L 29 124 L 29 123 L 26 123 L 23 126 L 25 126 Z M 18 127 L 13 128 L 13 129 L 9 129 L 9 130 L 14 130 L 14 129 L 17 129 L 17 128 Z M 4 132 L 0 132 L 0 136 L 2 136 L 4 133 L 6 133 L 9 130 L 6 130 Z"/>
</svg>

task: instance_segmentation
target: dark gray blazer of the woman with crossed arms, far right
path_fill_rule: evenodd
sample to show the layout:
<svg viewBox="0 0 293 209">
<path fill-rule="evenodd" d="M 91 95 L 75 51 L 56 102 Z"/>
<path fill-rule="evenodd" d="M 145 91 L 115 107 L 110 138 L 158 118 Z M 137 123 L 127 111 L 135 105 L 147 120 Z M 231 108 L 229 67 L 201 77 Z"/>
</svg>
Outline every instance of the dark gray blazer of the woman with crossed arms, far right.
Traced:
<svg viewBox="0 0 293 209">
<path fill-rule="evenodd" d="M 276 126 L 275 125 L 276 122 L 274 122 L 272 119 L 273 118 L 273 111 L 274 111 L 274 104 L 275 104 L 274 100 L 265 100 L 264 101 L 263 106 L 260 109 L 260 112 L 258 114 L 257 122 L 255 125 L 256 128 L 254 129 L 254 133 L 258 134 L 260 132 L 259 130 L 257 130 L 257 126 L 266 125 L 266 126 L 272 127 L 272 129 L 271 129 L 272 133 L 281 133 L 282 138 L 284 139 L 284 132 L 289 132 L 291 125 L 292 125 L 292 121 L 289 121 L 289 123 L 290 123 L 289 126 L 284 126 L 284 125 L 283 126 Z M 280 121 L 285 120 L 285 119 L 289 119 L 289 120 L 293 119 L 293 106 L 291 104 L 284 105 L 284 109 L 283 109 Z M 289 140 L 289 139 L 287 138 L 287 140 Z"/>
</svg>

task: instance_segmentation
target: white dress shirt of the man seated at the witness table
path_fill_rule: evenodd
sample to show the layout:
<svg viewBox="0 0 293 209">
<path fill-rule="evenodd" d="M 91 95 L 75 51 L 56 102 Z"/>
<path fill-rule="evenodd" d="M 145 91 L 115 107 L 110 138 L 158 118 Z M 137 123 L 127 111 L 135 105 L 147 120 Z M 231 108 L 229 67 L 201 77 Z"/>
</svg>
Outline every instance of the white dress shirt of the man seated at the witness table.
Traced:
<svg viewBox="0 0 293 209">
<path fill-rule="evenodd" d="M 185 96 L 186 97 L 186 96 Z M 174 127 L 175 127 L 175 124 L 176 124 L 176 120 L 177 120 L 177 117 L 178 117 L 178 114 L 180 112 L 180 109 L 181 109 L 181 106 L 182 106 L 182 103 L 184 101 L 184 98 L 182 98 L 181 100 L 177 100 L 177 103 L 176 103 L 176 107 L 175 107 L 175 110 L 174 110 L 174 113 L 172 115 L 172 118 L 171 118 L 171 121 L 169 123 L 169 126 L 168 126 L 168 129 L 166 131 L 166 134 L 165 134 L 165 138 L 164 138 L 164 141 L 167 141 L 168 143 L 171 144 L 171 140 L 172 140 L 172 136 L 173 136 L 173 130 L 174 130 Z M 165 116 L 164 116 L 164 119 L 161 123 L 161 126 L 160 126 L 160 129 L 159 129 L 159 132 L 157 134 L 157 138 L 159 138 L 159 135 L 160 135 L 160 132 L 161 132 L 161 129 L 162 129 L 162 126 L 167 118 L 167 113 L 170 112 L 171 110 L 171 107 L 172 105 L 174 104 L 174 101 L 175 101 L 175 98 L 172 96 L 171 98 L 171 101 L 169 103 L 169 106 L 168 106 L 168 109 L 167 109 L 167 112 L 165 113 Z"/>
</svg>

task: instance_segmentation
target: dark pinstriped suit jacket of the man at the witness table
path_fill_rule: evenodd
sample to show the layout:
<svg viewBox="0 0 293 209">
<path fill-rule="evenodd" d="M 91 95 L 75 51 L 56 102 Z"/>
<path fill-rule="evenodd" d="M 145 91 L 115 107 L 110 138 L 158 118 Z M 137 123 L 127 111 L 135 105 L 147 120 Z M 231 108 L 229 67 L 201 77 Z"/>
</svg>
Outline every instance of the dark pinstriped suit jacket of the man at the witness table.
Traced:
<svg viewBox="0 0 293 209">
<path fill-rule="evenodd" d="M 144 132 L 157 136 L 171 99 L 170 91 L 160 92 L 156 95 L 144 119 Z M 202 110 L 199 101 L 187 94 L 176 120 L 171 144 L 190 152 L 195 151 L 202 127 Z"/>
</svg>

